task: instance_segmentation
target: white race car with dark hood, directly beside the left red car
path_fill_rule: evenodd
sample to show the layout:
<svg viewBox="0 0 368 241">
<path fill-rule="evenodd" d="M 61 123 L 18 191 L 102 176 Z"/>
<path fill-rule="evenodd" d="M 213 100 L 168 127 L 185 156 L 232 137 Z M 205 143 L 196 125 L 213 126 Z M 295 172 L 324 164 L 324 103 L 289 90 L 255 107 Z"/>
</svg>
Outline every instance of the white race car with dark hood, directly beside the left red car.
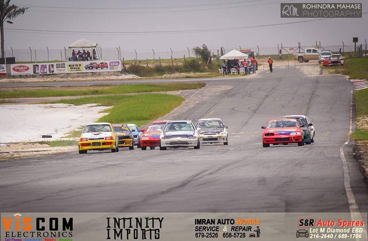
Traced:
<svg viewBox="0 0 368 241">
<path fill-rule="evenodd" d="M 161 131 L 158 129 L 157 131 Z M 167 121 L 160 135 L 160 150 L 167 147 L 190 147 L 200 148 L 199 129 L 191 120 Z"/>
</svg>

